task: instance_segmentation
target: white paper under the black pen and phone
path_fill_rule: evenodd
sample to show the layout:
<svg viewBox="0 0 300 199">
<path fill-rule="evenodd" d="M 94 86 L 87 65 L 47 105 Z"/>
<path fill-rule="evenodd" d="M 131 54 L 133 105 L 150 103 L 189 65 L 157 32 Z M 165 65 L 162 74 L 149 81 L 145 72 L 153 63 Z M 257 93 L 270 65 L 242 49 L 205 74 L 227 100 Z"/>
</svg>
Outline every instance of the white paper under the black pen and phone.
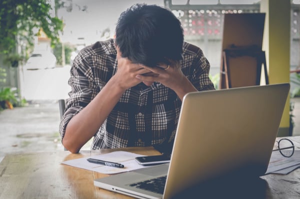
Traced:
<svg viewBox="0 0 300 199">
<path fill-rule="evenodd" d="M 69 165 L 72 167 L 77 167 L 77 168 L 81 168 L 81 169 L 85 169 L 85 170 L 90 170 L 90 171 L 94 171 L 94 172 L 98 172 L 98 173 L 102 173 L 102 174 L 117 174 L 117 173 L 128 172 L 128 171 L 133 171 L 136 169 L 145 168 L 146 166 L 139 165 L 136 162 L 135 157 L 138 157 L 138 156 L 143 156 L 143 155 L 125 152 L 125 151 L 115 151 L 115 152 L 111 152 L 111 153 L 107 153 L 107 154 L 101 154 L 101 155 L 96 155 L 96 156 L 68 160 L 68 161 L 62 162 L 61 164 Z M 115 167 L 108 167 L 108 166 L 104 166 L 104 165 L 89 163 L 87 161 L 88 158 L 94 158 L 94 159 L 98 159 L 98 160 L 119 163 L 119 164 L 124 165 L 124 168 L 115 168 Z"/>
</svg>

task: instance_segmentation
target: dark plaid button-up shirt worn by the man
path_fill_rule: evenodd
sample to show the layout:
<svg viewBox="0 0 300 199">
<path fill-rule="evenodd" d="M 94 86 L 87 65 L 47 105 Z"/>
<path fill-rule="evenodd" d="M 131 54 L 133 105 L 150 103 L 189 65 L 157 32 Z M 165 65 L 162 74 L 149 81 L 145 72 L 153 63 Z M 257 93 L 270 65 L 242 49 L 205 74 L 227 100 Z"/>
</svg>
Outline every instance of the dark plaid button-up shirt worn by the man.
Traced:
<svg viewBox="0 0 300 199">
<path fill-rule="evenodd" d="M 200 48 L 184 42 L 180 65 L 198 91 L 214 89 L 208 77 L 209 63 Z M 70 69 L 71 92 L 59 125 L 61 138 L 70 119 L 99 93 L 116 69 L 113 39 L 96 42 L 78 53 Z M 180 107 L 181 100 L 176 93 L 160 83 L 131 87 L 95 132 L 91 149 L 150 146 L 173 139 Z"/>
</svg>

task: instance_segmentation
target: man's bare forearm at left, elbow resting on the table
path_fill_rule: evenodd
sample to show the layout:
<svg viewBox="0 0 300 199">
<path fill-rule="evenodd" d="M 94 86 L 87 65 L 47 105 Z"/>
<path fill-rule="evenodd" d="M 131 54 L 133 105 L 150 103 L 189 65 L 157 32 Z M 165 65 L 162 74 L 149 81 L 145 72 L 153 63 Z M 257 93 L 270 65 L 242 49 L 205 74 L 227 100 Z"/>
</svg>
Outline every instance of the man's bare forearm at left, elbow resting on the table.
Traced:
<svg viewBox="0 0 300 199">
<path fill-rule="evenodd" d="M 111 78 L 96 97 L 67 124 L 62 144 L 71 153 L 78 153 L 98 131 L 125 91 L 114 82 L 114 78 Z"/>
</svg>

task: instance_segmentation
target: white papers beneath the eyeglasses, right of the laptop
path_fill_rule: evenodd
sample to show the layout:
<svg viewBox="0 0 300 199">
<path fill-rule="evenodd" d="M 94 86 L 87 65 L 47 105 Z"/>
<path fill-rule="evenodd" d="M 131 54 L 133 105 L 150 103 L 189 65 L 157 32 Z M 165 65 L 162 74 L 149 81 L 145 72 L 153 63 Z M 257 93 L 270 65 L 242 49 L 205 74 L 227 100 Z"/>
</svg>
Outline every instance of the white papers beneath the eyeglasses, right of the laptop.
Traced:
<svg viewBox="0 0 300 199">
<path fill-rule="evenodd" d="M 272 152 L 271 159 L 265 174 L 286 175 L 300 168 L 300 151 L 295 150 L 290 158 L 283 157 L 278 151 Z"/>
</svg>

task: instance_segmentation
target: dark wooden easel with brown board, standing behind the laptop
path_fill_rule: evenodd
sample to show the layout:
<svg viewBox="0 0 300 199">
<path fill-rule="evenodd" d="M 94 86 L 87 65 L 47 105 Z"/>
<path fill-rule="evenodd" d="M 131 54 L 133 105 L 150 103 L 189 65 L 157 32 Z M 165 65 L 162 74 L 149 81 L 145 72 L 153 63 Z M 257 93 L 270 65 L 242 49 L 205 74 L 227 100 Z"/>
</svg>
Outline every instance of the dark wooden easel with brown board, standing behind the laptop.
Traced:
<svg viewBox="0 0 300 199">
<path fill-rule="evenodd" d="M 262 38 L 265 13 L 224 14 L 219 88 L 268 84 Z"/>
</svg>

